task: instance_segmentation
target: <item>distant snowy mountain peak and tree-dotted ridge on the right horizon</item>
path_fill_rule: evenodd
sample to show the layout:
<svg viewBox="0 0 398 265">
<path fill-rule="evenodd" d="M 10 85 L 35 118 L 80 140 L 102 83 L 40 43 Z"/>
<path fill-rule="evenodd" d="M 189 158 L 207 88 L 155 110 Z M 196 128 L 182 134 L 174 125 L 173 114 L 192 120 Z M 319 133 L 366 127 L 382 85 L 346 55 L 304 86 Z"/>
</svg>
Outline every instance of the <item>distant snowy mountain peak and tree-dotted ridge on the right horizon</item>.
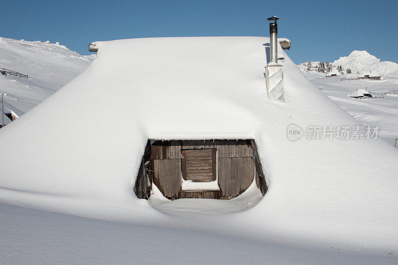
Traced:
<svg viewBox="0 0 398 265">
<path fill-rule="evenodd" d="M 319 64 L 321 62 L 305 62 L 298 65 L 301 72 L 322 72 L 319 71 Z M 370 71 L 371 73 L 378 73 L 381 76 L 398 77 L 398 64 L 394 62 L 381 62 L 375 56 L 369 54 L 367 51 L 353 51 L 346 57 L 330 63 L 332 69 L 342 68 L 342 73 L 346 73 L 350 69 L 353 74 L 361 74 Z"/>
</svg>

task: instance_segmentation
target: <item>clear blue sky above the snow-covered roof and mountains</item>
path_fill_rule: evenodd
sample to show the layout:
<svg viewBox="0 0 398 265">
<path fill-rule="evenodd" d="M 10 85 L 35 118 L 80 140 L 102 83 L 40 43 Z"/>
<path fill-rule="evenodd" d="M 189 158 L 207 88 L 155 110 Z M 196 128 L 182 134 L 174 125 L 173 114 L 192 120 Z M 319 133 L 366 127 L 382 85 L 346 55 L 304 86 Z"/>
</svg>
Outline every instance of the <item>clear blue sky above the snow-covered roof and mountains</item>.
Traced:
<svg viewBox="0 0 398 265">
<path fill-rule="evenodd" d="M 0 36 L 58 41 L 89 54 L 88 44 L 100 40 L 269 36 L 272 15 L 281 18 L 278 36 L 292 40 L 288 53 L 297 64 L 334 61 L 353 50 L 398 63 L 398 0 L 8 1 Z"/>
</svg>

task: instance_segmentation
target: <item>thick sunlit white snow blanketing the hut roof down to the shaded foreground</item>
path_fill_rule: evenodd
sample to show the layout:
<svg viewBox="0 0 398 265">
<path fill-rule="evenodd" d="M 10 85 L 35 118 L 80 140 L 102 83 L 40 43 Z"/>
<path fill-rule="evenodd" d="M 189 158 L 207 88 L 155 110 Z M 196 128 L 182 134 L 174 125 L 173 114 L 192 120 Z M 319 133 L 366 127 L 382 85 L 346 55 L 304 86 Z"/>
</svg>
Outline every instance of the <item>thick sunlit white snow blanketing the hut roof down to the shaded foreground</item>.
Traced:
<svg viewBox="0 0 398 265">
<path fill-rule="evenodd" d="M 285 53 L 287 102 L 268 99 L 265 43 L 269 38 L 97 42 L 85 72 L 0 130 L 0 202 L 320 249 L 398 251 L 397 150 L 380 139 L 290 141 L 290 124 L 361 124 Z M 250 210 L 211 220 L 158 212 L 132 191 L 148 138 L 253 138 L 269 190 Z M 352 167 L 363 157 L 372 163 Z"/>
</svg>

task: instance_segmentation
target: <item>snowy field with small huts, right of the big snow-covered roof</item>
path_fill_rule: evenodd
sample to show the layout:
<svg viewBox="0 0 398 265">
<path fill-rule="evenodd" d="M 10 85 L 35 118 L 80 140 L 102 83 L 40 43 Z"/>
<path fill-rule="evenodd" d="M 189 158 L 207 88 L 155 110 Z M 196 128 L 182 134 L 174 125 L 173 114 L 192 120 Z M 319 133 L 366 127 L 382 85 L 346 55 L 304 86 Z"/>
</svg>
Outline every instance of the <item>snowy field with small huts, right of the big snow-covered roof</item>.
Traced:
<svg viewBox="0 0 398 265">
<path fill-rule="evenodd" d="M 384 76 L 382 80 L 341 81 L 341 76 L 325 78 L 324 74 L 318 72 L 304 75 L 364 126 L 379 126 L 379 135 L 395 145 L 395 139 L 398 138 L 398 78 Z M 357 76 L 349 74 L 344 77 Z M 359 88 L 367 88 L 372 95 L 384 98 L 357 99 L 348 96 Z"/>
</svg>

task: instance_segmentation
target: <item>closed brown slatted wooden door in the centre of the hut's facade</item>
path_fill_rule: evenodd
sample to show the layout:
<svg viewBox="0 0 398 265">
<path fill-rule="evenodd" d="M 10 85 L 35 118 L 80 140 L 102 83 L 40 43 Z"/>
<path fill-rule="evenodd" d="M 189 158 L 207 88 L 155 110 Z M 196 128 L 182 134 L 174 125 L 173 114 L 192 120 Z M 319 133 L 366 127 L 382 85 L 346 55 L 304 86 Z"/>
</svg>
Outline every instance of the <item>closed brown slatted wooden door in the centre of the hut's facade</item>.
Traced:
<svg viewBox="0 0 398 265">
<path fill-rule="evenodd" d="M 185 180 L 209 182 L 216 180 L 216 149 L 181 150 L 181 170 Z"/>
</svg>

